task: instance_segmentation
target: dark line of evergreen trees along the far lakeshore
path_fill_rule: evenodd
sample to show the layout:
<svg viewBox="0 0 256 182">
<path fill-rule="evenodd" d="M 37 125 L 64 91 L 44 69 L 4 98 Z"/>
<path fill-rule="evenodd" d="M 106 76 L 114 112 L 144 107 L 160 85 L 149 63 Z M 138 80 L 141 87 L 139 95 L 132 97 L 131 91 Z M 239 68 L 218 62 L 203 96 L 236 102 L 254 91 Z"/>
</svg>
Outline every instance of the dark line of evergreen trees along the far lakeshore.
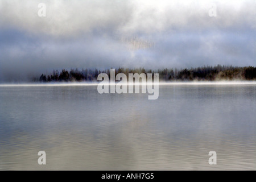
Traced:
<svg viewBox="0 0 256 182">
<path fill-rule="evenodd" d="M 100 73 L 106 73 L 110 77 L 110 69 L 63 69 L 61 72 L 53 70 L 50 74 L 42 74 L 34 81 L 40 82 L 68 82 L 68 81 L 97 81 Z M 115 75 L 118 73 L 159 73 L 160 81 L 221 81 L 221 80 L 256 80 L 256 67 L 233 67 L 217 65 L 214 67 L 204 66 L 190 69 L 144 69 L 144 68 L 117 68 Z"/>
</svg>

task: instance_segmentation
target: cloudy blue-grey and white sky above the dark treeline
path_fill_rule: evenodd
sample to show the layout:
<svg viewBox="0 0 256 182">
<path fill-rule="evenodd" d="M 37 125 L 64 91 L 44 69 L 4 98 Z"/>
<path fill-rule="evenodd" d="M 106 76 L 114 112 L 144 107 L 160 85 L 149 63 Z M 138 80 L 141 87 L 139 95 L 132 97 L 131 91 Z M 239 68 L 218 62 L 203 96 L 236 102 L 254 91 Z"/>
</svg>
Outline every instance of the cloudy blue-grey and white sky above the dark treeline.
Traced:
<svg viewBox="0 0 256 182">
<path fill-rule="evenodd" d="M 0 0 L 0 81 L 62 68 L 217 64 L 256 66 L 255 0 Z"/>
</svg>

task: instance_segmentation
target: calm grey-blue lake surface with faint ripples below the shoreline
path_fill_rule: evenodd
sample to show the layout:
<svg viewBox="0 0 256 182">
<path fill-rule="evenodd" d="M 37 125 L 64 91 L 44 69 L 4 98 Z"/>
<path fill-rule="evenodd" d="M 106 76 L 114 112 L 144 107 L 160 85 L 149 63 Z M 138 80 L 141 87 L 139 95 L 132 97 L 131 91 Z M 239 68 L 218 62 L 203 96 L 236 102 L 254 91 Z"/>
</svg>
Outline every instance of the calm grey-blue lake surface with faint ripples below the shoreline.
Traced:
<svg viewBox="0 0 256 182">
<path fill-rule="evenodd" d="M 256 85 L 0 87 L 0 170 L 256 170 L 255 150 Z"/>
</svg>

